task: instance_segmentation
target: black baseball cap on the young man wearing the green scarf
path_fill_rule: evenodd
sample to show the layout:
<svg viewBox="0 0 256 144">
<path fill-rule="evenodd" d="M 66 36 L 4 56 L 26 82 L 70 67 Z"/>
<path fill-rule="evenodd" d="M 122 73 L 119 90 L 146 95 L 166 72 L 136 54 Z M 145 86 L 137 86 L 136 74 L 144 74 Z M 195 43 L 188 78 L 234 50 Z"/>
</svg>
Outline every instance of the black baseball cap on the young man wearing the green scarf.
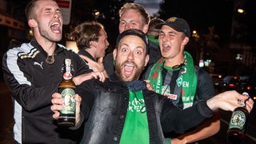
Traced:
<svg viewBox="0 0 256 144">
<path fill-rule="evenodd" d="M 165 22 L 162 22 L 158 26 L 155 26 L 156 29 L 161 29 L 163 25 L 170 26 L 174 30 L 182 32 L 186 37 L 190 37 L 190 26 L 183 18 L 171 17 L 168 18 Z"/>
</svg>

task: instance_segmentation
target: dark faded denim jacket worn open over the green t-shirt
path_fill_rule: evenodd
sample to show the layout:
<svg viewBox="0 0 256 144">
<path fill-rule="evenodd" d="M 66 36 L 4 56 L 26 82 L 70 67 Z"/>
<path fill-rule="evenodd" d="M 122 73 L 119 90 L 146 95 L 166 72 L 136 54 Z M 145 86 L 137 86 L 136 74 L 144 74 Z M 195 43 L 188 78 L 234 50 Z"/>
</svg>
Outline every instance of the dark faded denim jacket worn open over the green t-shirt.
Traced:
<svg viewBox="0 0 256 144">
<path fill-rule="evenodd" d="M 111 75 L 106 82 L 91 79 L 77 87 L 82 97 L 85 127 L 82 143 L 119 143 L 126 119 L 129 90 L 125 82 Z M 206 101 L 186 110 L 179 110 L 166 97 L 142 90 L 150 132 L 150 143 L 165 143 L 162 131 L 182 133 L 210 118 L 212 110 Z"/>
</svg>

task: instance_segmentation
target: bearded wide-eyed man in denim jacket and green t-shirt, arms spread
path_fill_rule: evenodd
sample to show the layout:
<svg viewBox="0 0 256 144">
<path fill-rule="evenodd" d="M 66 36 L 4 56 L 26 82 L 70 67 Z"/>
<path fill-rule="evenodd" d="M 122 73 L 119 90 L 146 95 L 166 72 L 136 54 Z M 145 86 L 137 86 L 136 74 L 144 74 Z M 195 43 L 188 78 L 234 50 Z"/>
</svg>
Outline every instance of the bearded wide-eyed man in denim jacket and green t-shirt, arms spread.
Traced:
<svg viewBox="0 0 256 144">
<path fill-rule="evenodd" d="M 76 95 L 77 121 L 72 129 L 86 122 L 82 143 L 166 143 L 162 130 L 182 132 L 209 118 L 214 110 L 234 110 L 238 99 L 247 98 L 228 91 L 180 110 L 166 97 L 147 90 L 146 82 L 138 80 L 149 60 L 146 34 L 140 30 L 122 32 L 113 54 L 115 74 L 105 82 L 90 79 L 77 88 L 81 97 Z M 53 118 L 58 118 L 58 110 L 63 108 L 61 95 L 53 94 L 52 103 Z M 247 110 L 253 104 L 249 99 Z"/>
</svg>

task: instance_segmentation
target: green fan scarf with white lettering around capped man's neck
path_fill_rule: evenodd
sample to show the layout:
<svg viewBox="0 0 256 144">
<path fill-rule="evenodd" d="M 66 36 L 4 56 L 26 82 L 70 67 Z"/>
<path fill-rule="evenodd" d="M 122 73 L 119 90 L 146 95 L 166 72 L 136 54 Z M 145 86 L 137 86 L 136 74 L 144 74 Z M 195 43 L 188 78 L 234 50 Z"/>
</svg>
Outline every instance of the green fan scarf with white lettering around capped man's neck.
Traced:
<svg viewBox="0 0 256 144">
<path fill-rule="evenodd" d="M 197 77 L 194 70 L 194 61 L 191 55 L 184 51 L 186 64 L 182 68 L 180 76 L 176 79 L 178 87 L 182 86 L 183 109 L 190 107 L 194 102 L 194 94 L 197 88 Z M 160 58 L 150 70 L 148 80 L 154 87 L 155 92 L 162 94 L 162 66 L 165 58 Z"/>
</svg>

